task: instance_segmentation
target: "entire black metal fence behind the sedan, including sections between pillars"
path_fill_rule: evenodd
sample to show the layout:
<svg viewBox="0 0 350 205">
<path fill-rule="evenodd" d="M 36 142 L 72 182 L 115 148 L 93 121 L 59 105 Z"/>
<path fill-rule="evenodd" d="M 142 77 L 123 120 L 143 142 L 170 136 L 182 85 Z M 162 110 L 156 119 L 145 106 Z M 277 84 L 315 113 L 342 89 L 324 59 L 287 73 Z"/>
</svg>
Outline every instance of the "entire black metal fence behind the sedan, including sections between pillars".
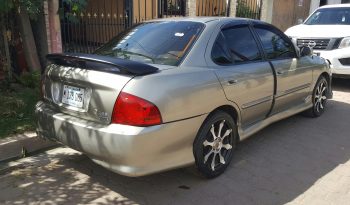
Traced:
<svg viewBox="0 0 350 205">
<path fill-rule="evenodd" d="M 235 1 L 235 0 L 231 0 Z M 237 0 L 236 16 L 259 19 L 262 0 Z M 230 0 L 196 0 L 197 16 L 227 16 Z M 75 12 L 60 1 L 64 52 L 91 53 L 133 24 L 184 16 L 186 0 L 89 0 Z"/>
</svg>

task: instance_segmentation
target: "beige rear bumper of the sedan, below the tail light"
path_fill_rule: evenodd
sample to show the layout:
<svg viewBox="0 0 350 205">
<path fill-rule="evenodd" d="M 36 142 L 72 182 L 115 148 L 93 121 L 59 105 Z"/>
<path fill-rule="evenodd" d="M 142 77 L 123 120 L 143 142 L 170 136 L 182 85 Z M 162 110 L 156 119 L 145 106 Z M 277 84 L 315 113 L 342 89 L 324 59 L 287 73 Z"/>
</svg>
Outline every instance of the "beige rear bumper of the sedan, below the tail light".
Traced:
<svg viewBox="0 0 350 205">
<path fill-rule="evenodd" d="M 142 176 L 194 162 L 192 145 L 206 115 L 151 127 L 102 125 L 55 112 L 38 102 L 39 136 L 61 142 L 126 176 Z"/>
</svg>

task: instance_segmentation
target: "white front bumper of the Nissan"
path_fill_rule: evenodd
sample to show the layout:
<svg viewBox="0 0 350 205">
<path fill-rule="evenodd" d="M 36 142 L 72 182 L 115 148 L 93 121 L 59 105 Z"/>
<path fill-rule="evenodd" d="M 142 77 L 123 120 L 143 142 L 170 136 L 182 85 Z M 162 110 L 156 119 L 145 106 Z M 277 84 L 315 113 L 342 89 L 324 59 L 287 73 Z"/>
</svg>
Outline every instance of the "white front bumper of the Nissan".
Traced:
<svg viewBox="0 0 350 205">
<path fill-rule="evenodd" d="M 350 48 L 334 49 L 334 50 L 314 50 L 320 53 L 320 56 L 330 62 L 333 74 L 350 75 Z M 336 76 L 335 75 L 335 76 Z"/>
</svg>

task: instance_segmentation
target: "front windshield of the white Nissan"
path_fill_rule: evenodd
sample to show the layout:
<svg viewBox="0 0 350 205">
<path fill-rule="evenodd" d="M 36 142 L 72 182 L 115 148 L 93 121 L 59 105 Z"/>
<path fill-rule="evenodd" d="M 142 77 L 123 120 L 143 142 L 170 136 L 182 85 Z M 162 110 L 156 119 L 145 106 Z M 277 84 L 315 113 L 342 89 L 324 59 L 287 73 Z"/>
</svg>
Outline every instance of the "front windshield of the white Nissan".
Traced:
<svg viewBox="0 0 350 205">
<path fill-rule="evenodd" d="M 350 8 L 319 9 L 305 22 L 306 25 L 350 25 Z"/>
</svg>

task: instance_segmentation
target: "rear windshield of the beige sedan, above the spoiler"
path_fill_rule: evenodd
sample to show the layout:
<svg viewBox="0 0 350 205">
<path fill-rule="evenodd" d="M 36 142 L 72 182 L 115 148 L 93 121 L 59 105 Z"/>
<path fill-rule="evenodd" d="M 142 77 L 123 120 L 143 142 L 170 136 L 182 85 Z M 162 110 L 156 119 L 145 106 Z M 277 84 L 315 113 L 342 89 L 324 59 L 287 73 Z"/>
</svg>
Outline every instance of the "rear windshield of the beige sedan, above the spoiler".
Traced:
<svg viewBox="0 0 350 205">
<path fill-rule="evenodd" d="M 203 29 L 189 21 L 159 21 L 136 25 L 95 51 L 95 54 L 142 63 L 178 65 Z"/>
</svg>

